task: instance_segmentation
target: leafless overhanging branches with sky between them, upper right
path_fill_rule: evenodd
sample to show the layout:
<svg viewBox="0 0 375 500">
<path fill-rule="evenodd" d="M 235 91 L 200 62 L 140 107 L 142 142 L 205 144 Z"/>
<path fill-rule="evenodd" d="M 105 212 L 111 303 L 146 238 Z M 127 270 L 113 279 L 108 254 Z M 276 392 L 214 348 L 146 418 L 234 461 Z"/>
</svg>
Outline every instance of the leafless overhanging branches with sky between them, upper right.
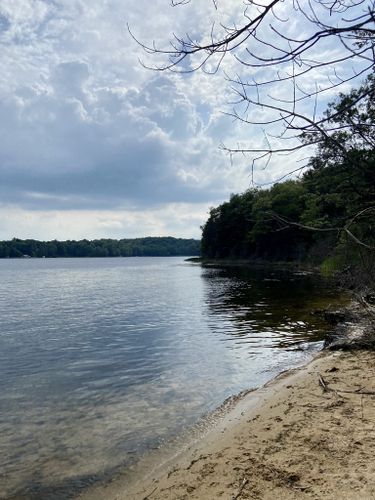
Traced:
<svg viewBox="0 0 375 500">
<path fill-rule="evenodd" d="M 193 0 L 171 0 L 173 6 Z M 246 0 L 242 25 L 212 23 L 211 30 L 195 39 L 189 34 L 173 36 L 167 48 L 144 44 L 131 36 L 146 54 L 160 56 L 158 71 L 190 73 L 201 69 L 217 73 L 226 57 L 237 64 L 237 75 L 227 75 L 236 96 L 234 109 L 227 113 L 243 124 L 267 127 L 265 147 L 224 146 L 226 152 L 253 155 L 252 169 L 260 159 L 267 165 L 272 155 L 293 153 L 311 145 L 331 142 L 342 156 L 347 148 L 338 134 L 355 125 L 356 141 L 374 147 L 369 124 L 361 117 L 338 125 L 341 116 L 359 106 L 373 90 L 365 89 L 335 113 L 319 116 L 321 99 L 333 91 L 357 83 L 375 69 L 374 0 Z M 220 2 L 213 0 L 220 15 Z M 288 11 L 289 7 L 289 11 Z M 294 27 L 298 26 L 298 31 Z M 143 63 L 145 67 L 148 67 Z M 243 74 L 255 76 L 247 81 Z M 248 78 L 248 76 L 246 76 Z M 259 113 L 251 113 L 254 108 Z M 245 110 L 245 111 L 244 111 Z M 250 114 L 251 113 L 251 114 Z M 280 141 L 295 141 L 295 145 Z"/>
</svg>

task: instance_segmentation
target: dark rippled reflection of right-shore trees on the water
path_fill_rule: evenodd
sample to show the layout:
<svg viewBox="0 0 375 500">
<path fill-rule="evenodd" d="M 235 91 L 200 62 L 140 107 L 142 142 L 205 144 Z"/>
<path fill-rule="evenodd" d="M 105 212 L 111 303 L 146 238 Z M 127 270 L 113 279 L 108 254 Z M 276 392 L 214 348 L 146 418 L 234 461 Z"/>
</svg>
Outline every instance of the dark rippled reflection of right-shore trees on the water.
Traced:
<svg viewBox="0 0 375 500">
<path fill-rule="evenodd" d="M 314 309 L 344 299 L 329 281 L 311 273 L 246 267 L 207 267 L 206 303 L 233 342 L 254 348 L 300 348 L 323 340 L 327 324 Z M 212 325 L 213 328 L 215 324 Z"/>
</svg>

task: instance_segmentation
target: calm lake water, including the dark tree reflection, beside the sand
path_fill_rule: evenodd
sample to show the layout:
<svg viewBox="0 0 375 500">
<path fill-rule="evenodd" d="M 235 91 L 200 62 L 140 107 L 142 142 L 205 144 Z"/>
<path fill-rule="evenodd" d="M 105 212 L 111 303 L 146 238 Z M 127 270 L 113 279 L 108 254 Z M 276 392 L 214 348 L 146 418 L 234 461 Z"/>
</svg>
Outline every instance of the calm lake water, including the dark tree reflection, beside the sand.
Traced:
<svg viewBox="0 0 375 500">
<path fill-rule="evenodd" d="M 304 275 L 182 258 L 0 261 L 0 497 L 63 498 L 320 348 Z"/>
</svg>

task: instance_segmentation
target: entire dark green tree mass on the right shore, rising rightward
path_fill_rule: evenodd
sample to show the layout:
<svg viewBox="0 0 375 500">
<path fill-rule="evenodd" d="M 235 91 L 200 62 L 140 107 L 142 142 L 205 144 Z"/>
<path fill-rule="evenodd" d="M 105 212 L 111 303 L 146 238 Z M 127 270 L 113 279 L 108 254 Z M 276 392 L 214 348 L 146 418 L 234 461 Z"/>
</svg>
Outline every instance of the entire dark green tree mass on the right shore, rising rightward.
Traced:
<svg viewBox="0 0 375 500">
<path fill-rule="evenodd" d="M 364 88 L 361 108 L 350 108 Z M 337 132 L 322 142 L 299 180 L 250 189 L 212 208 L 202 228 L 202 256 L 361 264 L 364 273 L 366 266 L 374 273 L 374 96 L 370 77 L 329 106 L 326 116 L 336 120 Z M 344 105 L 350 112 L 337 118 Z"/>
</svg>

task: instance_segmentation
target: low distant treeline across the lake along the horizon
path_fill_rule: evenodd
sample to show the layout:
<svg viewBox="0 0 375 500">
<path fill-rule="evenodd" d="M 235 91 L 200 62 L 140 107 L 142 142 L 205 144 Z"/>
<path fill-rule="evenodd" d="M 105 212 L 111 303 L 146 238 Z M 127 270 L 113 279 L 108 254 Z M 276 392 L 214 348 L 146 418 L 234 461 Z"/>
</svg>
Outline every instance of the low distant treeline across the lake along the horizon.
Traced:
<svg viewBox="0 0 375 500">
<path fill-rule="evenodd" d="M 168 257 L 196 256 L 200 241 L 172 237 L 37 241 L 13 238 L 0 242 L 0 258 L 17 257 Z"/>
</svg>

